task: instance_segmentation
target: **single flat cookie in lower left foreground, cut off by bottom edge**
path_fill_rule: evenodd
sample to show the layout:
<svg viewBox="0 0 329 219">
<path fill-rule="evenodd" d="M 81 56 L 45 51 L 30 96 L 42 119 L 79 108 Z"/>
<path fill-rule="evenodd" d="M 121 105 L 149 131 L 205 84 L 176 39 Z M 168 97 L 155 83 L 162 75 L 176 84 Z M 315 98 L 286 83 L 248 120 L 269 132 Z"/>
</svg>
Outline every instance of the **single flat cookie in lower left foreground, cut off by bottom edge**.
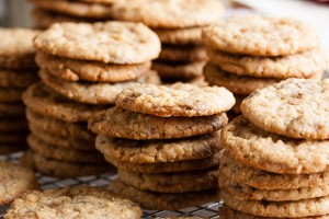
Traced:
<svg viewBox="0 0 329 219">
<path fill-rule="evenodd" d="M 141 217 L 141 209 L 131 200 L 115 197 L 106 188 L 77 186 L 24 194 L 13 201 L 4 218 L 24 217 L 137 219 Z"/>
</svg>

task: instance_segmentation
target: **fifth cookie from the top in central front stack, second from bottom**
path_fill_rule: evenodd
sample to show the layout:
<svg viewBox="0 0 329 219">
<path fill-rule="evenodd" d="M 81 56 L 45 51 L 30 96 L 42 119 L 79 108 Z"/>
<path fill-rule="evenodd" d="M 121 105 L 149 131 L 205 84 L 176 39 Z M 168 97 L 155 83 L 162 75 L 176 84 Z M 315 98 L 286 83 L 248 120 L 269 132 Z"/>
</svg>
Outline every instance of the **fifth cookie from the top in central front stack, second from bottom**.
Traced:
<svg viewBox="0 0 329 219">
<path fill-rule="evenodd" d="M 141 191 L 186 193 L 217 187 L 218 171 L 214 169 L 180 173 L 136 173 L 117 171 L 118 177 Z"/>
</svg>

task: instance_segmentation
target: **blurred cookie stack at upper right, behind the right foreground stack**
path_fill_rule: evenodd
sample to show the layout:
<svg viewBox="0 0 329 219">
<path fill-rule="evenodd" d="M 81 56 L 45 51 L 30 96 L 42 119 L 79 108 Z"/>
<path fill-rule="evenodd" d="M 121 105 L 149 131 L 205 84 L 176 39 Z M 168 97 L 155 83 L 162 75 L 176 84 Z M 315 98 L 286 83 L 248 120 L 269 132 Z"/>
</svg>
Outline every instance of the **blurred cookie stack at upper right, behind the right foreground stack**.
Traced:
<svg viewBox="0 0 329 219">
<path fill-rule="evenodd" d="M 238 15 L 203 30 L 209 62 L 204 69 L 211 85 L 223 85 L 240 103 L 257 89 L 287 78 L 320 79 L 326 69 L 316 32 L 282 18 Z"/>
</svg>

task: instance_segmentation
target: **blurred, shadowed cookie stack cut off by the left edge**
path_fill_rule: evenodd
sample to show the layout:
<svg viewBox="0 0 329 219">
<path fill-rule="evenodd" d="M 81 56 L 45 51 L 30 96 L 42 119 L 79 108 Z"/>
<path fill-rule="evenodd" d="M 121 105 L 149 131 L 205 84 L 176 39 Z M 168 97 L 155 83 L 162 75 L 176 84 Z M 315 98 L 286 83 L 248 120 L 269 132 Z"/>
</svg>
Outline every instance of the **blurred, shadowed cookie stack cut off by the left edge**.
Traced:
<svg viewBox="0 0 329 219">
<path fill-rule="evenodd" d="M 21 95 L 37 81 L 33 38 L 36 31 L 0 28 L 0 154 L 26 146 L 27 123 Z"/>
</svg>

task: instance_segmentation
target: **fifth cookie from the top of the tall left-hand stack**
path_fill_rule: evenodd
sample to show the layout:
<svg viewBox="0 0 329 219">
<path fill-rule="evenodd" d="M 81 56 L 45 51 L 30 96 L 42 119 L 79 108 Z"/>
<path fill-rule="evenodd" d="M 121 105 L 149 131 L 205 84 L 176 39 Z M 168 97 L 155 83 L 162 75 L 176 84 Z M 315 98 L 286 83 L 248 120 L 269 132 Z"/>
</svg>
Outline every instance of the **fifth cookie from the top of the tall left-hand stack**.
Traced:
<svg viewBox="0 0 329 219">
<path fill-rule="evenodd" d="M 84 140 L 95 139 L 95 135 L 88 130 L 87 123 L 66 123 L 64 120 L 43 116 L 29 107 L 26 108 L 26 118 L 30 124 L 37 126 L 39 129 L 57 134 L 58 136 L 79 137 Z"/>
</svg>

